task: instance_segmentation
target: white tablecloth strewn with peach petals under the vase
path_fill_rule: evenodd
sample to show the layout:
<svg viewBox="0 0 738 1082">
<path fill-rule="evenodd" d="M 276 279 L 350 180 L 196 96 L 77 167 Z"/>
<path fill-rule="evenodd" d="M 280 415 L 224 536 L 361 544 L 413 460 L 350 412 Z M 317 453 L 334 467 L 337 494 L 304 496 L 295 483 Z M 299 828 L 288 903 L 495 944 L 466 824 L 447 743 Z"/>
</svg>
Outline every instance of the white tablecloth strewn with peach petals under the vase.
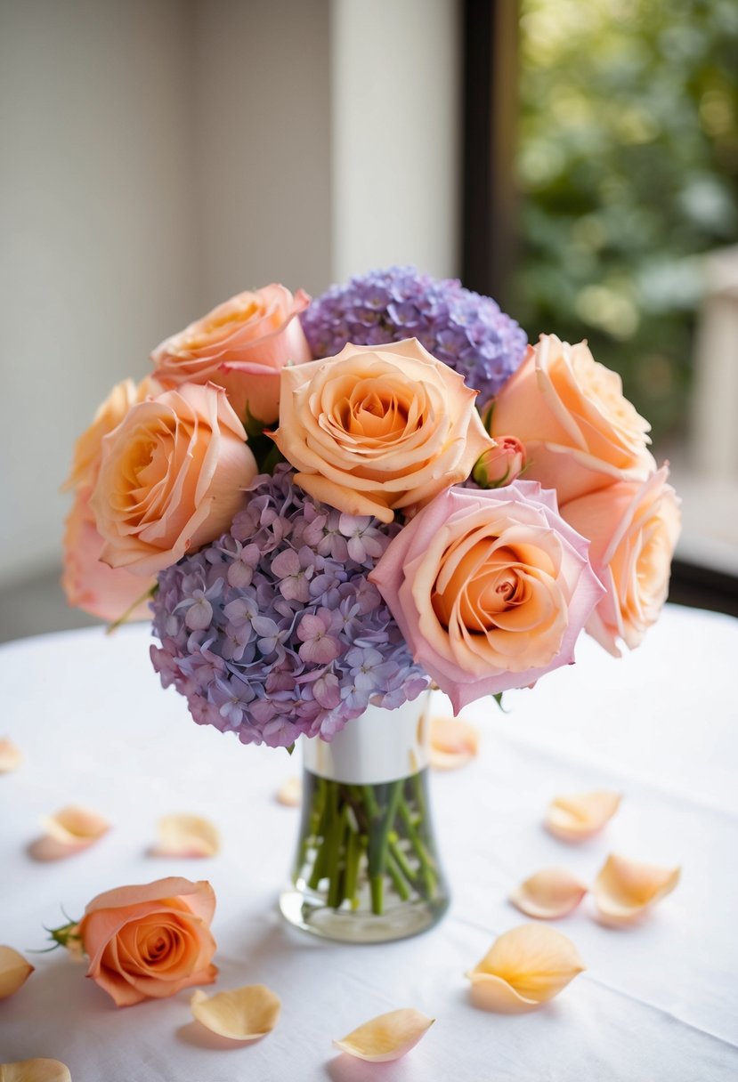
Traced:
<svg viewBox="0 0 738 1082">
<path fill-rule="evenodd" d="M 0 778 L 0 942 L 43 947 L 42 925 L 64 923 L 61 906 L 79 915 L 115 886 L 208 879 L 221 968 L 208 991 L 266 984 L 282 999 L 280 1022 L 255 1044 L 224 1047 L 192 1020 L 189 991 L 117 1010 L 60 950 L 29 955 L 36 973 L 0 1003 L 0 1063 L 61 1059 L 75 1082 L 738 1077 L 738 621 L 671 607 L 623 660 L 583 639 L 578 664 L 508 695 L 509 713 L 491 701 L 471 708 L 484 734 L 478 760 L 432 779 L 451 910 L 425 935 L 371 947 L 314 940 L 281 922 L 298 812 L 275 791 L 299 756 L 196 726 L 184 700 L 161 690 L 147 637 L 146 626 L 111 638 L 95 629 L 0 650 L 0 736 L 25 754 Z M 605 834 L 572 847 L 542 830 L 553 795 L 599 787 L 624 794 Z M 114 829 L 75 857 L 32 861 L 40 818 L 73 802 Z M 214 820 L 221 854 L 148 856 L 170 812 Z M 591 881 L 612 850 L 681 863 L 682 883 L 628 931 L 597 924 L 589 899 L 556 922 L 588 971 L 542 1010 L 472 1006 L 464 969 L 525 921 L 506 901 L 511 887 L 555 863 Z M 331 1047 L 399 1006 L 437 1018 L 405 1059 L 378 1068 Z"/>
</svg>

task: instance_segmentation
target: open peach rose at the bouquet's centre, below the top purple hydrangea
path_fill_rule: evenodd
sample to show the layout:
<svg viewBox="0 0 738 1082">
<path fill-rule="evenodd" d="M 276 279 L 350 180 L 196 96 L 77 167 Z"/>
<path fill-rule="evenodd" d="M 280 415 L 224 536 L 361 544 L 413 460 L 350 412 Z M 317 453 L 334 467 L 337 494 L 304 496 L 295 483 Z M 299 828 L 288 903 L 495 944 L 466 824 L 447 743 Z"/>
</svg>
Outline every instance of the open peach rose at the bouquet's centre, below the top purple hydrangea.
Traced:
<svg viewBox="0 0 738 1082">
<path fill-rule="evenodd" d="M 316 500 L 391 523 L 469 477 L 493 440 L 475 391 L 416 339 L 346 345 L 281 373 L 274 438 Z"/>
</svg>

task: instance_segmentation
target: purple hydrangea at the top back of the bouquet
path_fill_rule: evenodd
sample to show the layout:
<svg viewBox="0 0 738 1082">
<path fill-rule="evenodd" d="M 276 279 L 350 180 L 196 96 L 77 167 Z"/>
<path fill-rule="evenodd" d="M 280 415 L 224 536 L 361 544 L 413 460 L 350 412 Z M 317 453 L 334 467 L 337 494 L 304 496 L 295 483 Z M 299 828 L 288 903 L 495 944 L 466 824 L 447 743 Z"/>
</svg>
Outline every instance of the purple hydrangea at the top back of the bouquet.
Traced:
<svg viewBox="0 0 738 1082">
<path fill-rule="evenodd" d="M 516 371 L 527 344 L 522 328 L 491 298 L 414 267 L 373 270 L 331 286 L 301 319 L 316 358 L 333 356 L 346 342 L 386 345 L 417 338 L 479 392 L 480 408 Z"/>
</svg>

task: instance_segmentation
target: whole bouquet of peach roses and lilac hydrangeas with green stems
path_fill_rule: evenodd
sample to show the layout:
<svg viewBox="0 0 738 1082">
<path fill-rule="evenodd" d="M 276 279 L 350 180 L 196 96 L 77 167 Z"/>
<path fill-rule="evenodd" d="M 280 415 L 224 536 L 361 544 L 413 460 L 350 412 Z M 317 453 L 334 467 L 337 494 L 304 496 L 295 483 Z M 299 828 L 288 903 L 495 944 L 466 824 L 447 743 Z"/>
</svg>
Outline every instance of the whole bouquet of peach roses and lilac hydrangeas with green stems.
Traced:
<svg viewBox="0 0 738 1082">
<path fill-rule="evenodd" d="M 617 656 L 657 619 L 678 502 L 585 343 L 528 345 L 489 298 L 393 267 L 241 293 L 151 358 L 77 444 L 64 585 L 153 616 L 198 724 L 330 742 L 431 686 L 456 711 L 531 686 L 582 631 Z M 374 913 L 387 875 L 432 899 L 423 793 L 322 780 L 315 888 L 355 906 L 367 865 Z"/>
</svg>

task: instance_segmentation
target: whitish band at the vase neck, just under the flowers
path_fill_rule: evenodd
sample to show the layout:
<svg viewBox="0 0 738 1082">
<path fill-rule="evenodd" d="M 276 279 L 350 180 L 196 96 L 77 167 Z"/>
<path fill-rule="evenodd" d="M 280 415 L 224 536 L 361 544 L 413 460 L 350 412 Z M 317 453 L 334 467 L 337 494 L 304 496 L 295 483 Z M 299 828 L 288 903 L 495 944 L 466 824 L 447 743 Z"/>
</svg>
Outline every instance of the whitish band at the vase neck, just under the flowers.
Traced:
<svg viewBox="0 0 738 1082">
<path fill-rule="evenodd" d="M 396 710 L 368 707 L 347 722 L 330 743 L 303 740 L 303 763 L 311 774 L 351 786 L 407 778 L 429 764 L 430 691 Z"/>
</svg>

